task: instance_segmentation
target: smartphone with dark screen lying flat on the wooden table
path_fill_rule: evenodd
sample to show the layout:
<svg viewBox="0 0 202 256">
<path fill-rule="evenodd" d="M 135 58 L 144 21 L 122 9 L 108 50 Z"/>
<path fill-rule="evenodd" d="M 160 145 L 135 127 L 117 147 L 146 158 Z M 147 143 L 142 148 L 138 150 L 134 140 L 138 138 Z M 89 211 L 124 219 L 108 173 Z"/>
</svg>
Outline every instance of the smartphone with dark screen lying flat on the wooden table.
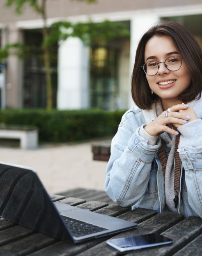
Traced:
<svg viewBox="0 0 202 256">
<path fill-rule="evenodd" d="M 133 237 L 123 237 L 106 241 L 107 245 L 109 245 L 112 249 L 115 249 L 119 253 L 128 253 L 133 250 L 171 243 L 171 239 L 164 237 L 163 235 L 160 235 L 158 233 L 138 235 Z"/>
</svg>

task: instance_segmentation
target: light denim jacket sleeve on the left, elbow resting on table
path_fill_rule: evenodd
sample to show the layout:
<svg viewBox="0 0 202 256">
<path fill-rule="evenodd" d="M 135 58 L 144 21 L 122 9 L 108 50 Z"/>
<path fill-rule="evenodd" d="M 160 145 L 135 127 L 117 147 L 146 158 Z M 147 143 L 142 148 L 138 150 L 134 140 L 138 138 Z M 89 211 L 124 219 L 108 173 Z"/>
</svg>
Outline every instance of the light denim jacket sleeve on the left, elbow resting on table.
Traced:
<svg viewBox="0 0 202 256">
<path fill-rule="evenodd" d="M 161 146 L 158 138 L 152 146 L 140 136 L 142 126 L 133 128 L 128 120 L 119 125 L 106 170 L 106 193 L 121 206 L 135 204 L 145 193 L 151 162 Z"/>
</svg>

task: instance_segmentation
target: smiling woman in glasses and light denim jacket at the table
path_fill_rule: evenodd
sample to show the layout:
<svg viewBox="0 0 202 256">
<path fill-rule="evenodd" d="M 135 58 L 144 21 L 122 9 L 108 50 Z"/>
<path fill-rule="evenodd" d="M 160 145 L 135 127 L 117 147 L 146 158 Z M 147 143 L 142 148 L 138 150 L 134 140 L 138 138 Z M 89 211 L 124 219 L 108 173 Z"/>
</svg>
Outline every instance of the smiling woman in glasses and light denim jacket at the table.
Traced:
<svg viewBox="0 0 202 256">
<path fill-rule="evenodd" d="M 178 23 L 141 38 L 136 104 L 112 139 L 106 192 L 121 206 L 202 218 L 202 49 Z M 178 144 L 179 143 L 179 144 Z"/>
</svg>

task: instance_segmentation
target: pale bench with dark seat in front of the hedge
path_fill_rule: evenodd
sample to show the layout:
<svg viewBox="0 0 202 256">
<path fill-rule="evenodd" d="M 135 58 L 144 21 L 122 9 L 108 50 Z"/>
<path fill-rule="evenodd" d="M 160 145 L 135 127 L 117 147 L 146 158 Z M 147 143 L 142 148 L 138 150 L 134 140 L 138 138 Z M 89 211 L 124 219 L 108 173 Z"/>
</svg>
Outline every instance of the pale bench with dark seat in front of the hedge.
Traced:
<svg viewBox="0 0 202 256">
<path fill-rule="evenodd" d="M 38 130 L 33 126 L 0 125 L 0 138 L 19 139 L 22 149 L 34 149 L 38 146 Z"/>
</svg>

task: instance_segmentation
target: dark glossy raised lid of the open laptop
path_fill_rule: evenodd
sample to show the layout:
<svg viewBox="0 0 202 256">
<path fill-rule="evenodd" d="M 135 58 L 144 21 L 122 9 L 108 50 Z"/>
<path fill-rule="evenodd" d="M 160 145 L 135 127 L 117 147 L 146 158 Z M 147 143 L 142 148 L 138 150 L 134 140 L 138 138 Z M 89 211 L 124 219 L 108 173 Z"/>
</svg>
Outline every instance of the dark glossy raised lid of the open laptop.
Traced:
<svg viewBox="0 0 202 256">
<path fill-rule="evenodd" d="M 44 186 L 31 169 L 0 163 L 0 216 L 73 242 Z"/>
</svg>

